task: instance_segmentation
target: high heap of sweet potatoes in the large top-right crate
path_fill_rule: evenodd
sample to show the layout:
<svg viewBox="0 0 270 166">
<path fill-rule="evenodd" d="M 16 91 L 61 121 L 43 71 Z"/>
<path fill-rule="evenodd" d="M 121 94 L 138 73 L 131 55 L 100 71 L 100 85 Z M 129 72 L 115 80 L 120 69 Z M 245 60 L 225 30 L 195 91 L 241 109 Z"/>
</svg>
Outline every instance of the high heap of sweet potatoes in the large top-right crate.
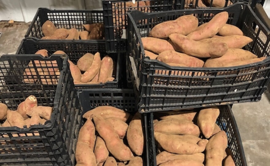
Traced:
<svg viewBox="0 0 270 166">
<path fill-rule="evenodd" d="M 182 67 L 231 67 L 263 61 L 266 57 L 242 49 L 253 40 L 226 24 L 228 17 L 224 11 L 200 26 L 193 15 L 157 24 L 149 37 L 141 38 L 145 56 Z"/>
</svg>

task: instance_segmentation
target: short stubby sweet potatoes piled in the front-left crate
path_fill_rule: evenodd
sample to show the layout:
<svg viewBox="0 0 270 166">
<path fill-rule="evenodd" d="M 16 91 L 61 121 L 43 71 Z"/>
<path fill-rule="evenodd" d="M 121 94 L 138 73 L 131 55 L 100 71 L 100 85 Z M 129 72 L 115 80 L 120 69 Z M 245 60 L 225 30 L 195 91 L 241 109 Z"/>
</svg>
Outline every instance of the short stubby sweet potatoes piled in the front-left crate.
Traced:
<svg viewBox="0 0 270 166">
<path fill-rule="evenodd" d="M 47 120 L 51 119 L 51 115 L 52 107 L 38 106 L 37 98 L 33 95 L 21 102 L 16 111 L 11 111 L 6 104 L 0 103 L 0 121 L 3 122 L 1 127 L 24 128 L 24 126 L 44 125 Z"/>
</svg>

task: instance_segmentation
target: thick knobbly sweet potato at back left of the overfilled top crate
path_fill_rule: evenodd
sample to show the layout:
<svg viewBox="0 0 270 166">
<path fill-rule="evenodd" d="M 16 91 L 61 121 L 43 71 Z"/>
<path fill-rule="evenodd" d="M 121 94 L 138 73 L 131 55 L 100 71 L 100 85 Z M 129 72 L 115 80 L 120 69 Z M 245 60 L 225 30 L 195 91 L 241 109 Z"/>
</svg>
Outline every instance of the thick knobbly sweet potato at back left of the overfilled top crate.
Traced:
<svg viewBox="0 0 270 166">
<path fill-rule="evenodd" d="M 199 21 L 193 15 L 184 15 L 176 20 L 165 21 L 155 25 L 149 33 L 149 36 L 167 39 L 172 33 L 187 35 L 198 27 Z"/>
</svg>

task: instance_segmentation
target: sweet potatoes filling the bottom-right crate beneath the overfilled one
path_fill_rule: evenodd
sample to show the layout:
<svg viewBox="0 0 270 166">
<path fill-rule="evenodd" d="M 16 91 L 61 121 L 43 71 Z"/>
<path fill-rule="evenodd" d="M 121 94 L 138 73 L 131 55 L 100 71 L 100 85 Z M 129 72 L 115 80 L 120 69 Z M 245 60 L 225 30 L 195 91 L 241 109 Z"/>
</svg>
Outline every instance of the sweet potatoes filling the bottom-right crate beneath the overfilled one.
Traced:
<svg viewBox="0 0 270 166">
<path fill-rule="evenodd" d="M 226 132 L 216 124 L 217 107 L 155 113 L 159 166 L 235 166 Z"/>
</svg>

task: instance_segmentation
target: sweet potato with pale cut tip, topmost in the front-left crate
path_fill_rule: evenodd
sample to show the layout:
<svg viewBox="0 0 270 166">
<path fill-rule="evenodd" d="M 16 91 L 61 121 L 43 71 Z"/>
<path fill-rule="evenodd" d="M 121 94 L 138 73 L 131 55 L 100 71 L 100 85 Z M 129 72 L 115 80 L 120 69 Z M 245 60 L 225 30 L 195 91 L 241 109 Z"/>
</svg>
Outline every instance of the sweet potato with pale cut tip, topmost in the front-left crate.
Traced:
<svg viewBox="0 0 270 166">
<path fill-rule="evenodd" d="M 28 96 L 23 102 L 17 107 L 17 112 L 21 114 L 24 119 L 27 119 L 27 112 L 37 107 L 37 98 L 34 95 Z"/>
</svg>

